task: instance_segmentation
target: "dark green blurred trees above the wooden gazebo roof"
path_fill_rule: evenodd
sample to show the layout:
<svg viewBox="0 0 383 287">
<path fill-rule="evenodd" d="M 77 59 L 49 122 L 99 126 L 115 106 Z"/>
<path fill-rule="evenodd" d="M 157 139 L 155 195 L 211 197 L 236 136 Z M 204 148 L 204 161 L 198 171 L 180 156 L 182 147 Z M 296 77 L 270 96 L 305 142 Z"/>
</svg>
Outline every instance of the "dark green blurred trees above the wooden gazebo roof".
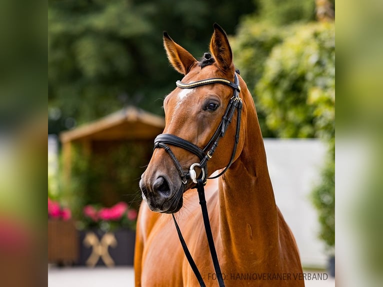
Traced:
<svg viewBox="0 0 383 287">
<path fill-rule="evenodd" d="M 161 113 L 174 87 L 162 31 L 194 56 L 206 51 L 213 22 L 233 33 L 252 13 L 247 0 L 50 0 L 49 132 L 105 115 L 125 104 Z"/>
</svg>

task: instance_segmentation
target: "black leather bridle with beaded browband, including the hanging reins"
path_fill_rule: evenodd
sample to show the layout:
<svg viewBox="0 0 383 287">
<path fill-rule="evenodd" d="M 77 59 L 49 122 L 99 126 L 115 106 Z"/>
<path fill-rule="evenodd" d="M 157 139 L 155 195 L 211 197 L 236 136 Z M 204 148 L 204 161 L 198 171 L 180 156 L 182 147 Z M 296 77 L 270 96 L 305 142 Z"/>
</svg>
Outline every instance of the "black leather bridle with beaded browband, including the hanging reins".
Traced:
<svg viewBox="0 0 383 287">
<path fill-rule="evenodd" d="M 170 158 L 174 162 L 175 167 L 178 170 L 178 173 L 181 177 L 182 184 L 185 186 L 188 182 L 189 179 L 192 180 L 196 184 L 197 191 L 198 191 L 198 197 L 199 197 L 199 204 L 201 205 L 201 210 L 202 210 L 202 217 L 203 217 L 203 223 L 205 227 L 205 232 L 206 232 L 206 237 L 207 237 L 207 242 L 209 245 L 210 249 L 210 254 L 211 258 L 213 261 L 214 265 L 214 270 L 215 274 L 217 277 L 217 281 L 220 287 L 224 286 L 223 282 L 223 277 L 222 273 L 219 267 L 219 262 L 218 262 L 218 257 L 215 251 L 215 246 L 214 246 L 214 240 L 212 237 L 211 233 L 211 227 L 210 227 L 210 221 L 207 213 L 207 206 L 206 206 L 206 200 L 205 200 L 205 194 L 204 194 L 204 184 L 206 183 L 207 179 L 212 179 L 212 178 L 217 178 L 221 176 L 231 165 L 231 163 L 234 160 L 235 153 L 236 153 L 236 148 L 238 145 L 239 141 L 239 130 L 240 130 L 240 119 L 241 119 L 241 111 L 242 111 L 242 101 L 241 98 L 239 97 L 239 92 L 240 92 L 240 86 L 239 86 L 239 81 L 238 81 L 238 76 L 236 73 L 234 73 L 234 82 L 231 82 L 227 79 L 224 78 L 208 78 L 204 80 L 199 80 L 199 81 L 194 81 L 191 83 L 183 83 L 181 81 L 176 81 L 176 85 L 180 88 L 192 88 L 192 87 L 197 87 L 201 85 L 206 85 L 206 84 L 213 84 L 213 83 L 221 83 L 228 85 L 233 88 L 233 95 L 229 100 L 229 103 L 227 104 L 225 113 L 222 116 L 222 119 L 215 130 L 213 136 L 210 138 L 206 146 L 201 149 L 194 143 L 187 141 L 181 137 L 178 137 L 174 134 L 169 134 L 169 133 L 162 133 L 159 134 L 155 139 L 154 139 L 154 148 L 164 148 L 165 151 L 169 154 Z M 234 147 L 231 153 L 231 158 L 229 163 L 226 165 L 226 167 L 218 174 L 213 177 L 206 177 L 207 176 L 207 161 L 212 157 L 216 147 L 218 146 L 218 141 L 221 137 L 224 136 L 227 127 L 229 123 L 232 120 L 232 117 L 234 115 L 235 109 L 237 110 L 236 114 L 236 129 L 235 129 L 235 138 L 234 138 Z M 171 151 L 169 145 L 174 145 L 177 147 L 181 147 L 183 149 L 186 149 L 190 151 L 191 153 L 194 153 L 196 156 L 199 158 L 199 162 L 193 163 L 189 166 L 188 169 L 184 170 L 179 163 L 178 159 L 175 157 L 174 153 Z M 194 170 L 195 167 L 199 167 L 201 169 L 201 177 L 197 178 L 196 177 L 196 172 Z M 203 282 L 202 276 L 186 246 L 186 242 L 183 239 L 183 236 L 181 234 L 181 231 L 179 229 L 179 226 L 177 224 L 177 221 L 175 220 L 174 214 L 172 214 L 175 228 L 178 233 L 179 240 L 181 242 L 183 251 L 186 255 L 186 258 L 200 284 L 200 286 L 205 286 L 205 283 Z"/>
</svg>

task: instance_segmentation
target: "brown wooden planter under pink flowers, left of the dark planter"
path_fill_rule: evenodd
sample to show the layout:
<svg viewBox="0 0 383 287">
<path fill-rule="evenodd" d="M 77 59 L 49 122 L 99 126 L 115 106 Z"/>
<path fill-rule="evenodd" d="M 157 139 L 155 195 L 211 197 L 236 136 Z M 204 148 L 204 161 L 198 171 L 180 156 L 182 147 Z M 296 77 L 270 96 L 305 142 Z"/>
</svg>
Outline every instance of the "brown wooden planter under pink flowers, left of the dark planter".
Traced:
<svg viewBox="0 0 383 287">
<path fill-rule="evenodd" d="M 77 230 L 72 220 L 48 220 L 48 262 L 72 264 L 78 259 Z"/>
</svg>

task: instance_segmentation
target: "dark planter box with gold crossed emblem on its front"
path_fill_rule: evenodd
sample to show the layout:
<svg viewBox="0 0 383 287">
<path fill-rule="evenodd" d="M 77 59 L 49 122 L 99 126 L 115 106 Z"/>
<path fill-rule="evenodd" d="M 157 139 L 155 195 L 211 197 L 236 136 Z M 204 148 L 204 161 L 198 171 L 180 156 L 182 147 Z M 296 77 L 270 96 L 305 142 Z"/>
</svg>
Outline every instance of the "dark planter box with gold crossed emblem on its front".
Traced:
<svg viewBox="0 0 383 287">
<path fill-rule="evenodd" d="M 100 229 L 79 231 L 79 265 L 133 265 L 135 231 Z"/>
</svg>

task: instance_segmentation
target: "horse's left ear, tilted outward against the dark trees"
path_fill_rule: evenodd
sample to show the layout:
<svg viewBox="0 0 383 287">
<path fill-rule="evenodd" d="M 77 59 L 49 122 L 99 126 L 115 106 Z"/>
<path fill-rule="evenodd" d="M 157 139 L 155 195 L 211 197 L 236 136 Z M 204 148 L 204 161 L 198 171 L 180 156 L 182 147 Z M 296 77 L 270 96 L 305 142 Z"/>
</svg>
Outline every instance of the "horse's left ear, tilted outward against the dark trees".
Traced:
<svg viewBox="0 0 383 287">
<path fill-rule="evenodd" d="M 197 61 L 188 51 L 174 42 L 167 32 L 163 32 L 163 46 L 171 65 L 182 74 L 187 74 Z"/>
</svg>

